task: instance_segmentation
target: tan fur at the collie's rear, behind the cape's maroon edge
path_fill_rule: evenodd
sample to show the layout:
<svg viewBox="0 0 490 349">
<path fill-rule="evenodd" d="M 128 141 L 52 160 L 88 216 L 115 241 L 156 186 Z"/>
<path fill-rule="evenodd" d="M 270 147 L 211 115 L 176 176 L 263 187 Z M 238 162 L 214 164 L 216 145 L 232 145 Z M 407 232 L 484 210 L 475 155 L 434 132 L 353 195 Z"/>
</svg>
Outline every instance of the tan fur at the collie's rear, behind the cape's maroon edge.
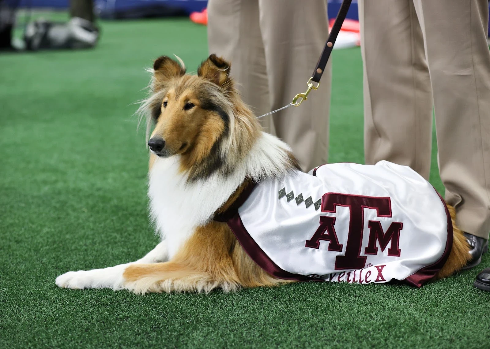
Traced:
<svg viewBox="0 0 490 349">
<path fill-rule="evenodd" d="M 446 278 L 461 270 L 471 258 L 465 235 L 456 225 L 456 210 L 451 205 L 446 206 L 453 223 L 453 248 L 447 258 L 446 264 L 444 264 L 437 275 L 438 279 Z"/>
</svg>

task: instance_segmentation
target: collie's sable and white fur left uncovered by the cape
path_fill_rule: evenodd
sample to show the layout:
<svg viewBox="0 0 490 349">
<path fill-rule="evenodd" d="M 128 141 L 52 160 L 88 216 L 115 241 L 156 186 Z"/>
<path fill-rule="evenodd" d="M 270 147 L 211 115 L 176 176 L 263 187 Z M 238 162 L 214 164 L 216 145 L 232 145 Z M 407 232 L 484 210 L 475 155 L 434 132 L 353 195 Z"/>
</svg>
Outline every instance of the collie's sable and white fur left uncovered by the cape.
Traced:
<svg viewBox="0 0 490 349">
<path fill-rule="evenodd" d="M 162 242 L 127 264 L 68 272 L 56 279 L 65 288 L 129 289 L 137 293 L 204 291 L 221 287 L 272 286 L 276 279 L 245 253 L 226 223 L 215 222 L 247 183 L 283 176 L 297 168 L 291 149 L 262 132 L 229 76 L 230 64 L 211 55 L 187 75 L 169 57 L 155 61 L 151 94 L 140 112 L 152 139 L 165 148 L 150 153 L 150 217 Z M 149 132 L 148 132 L 149 134 Z M 452 210 L 454 219 L 454 210 Z M 453 222 L 454 225 L 454 222 Z M 445 277 L 469 258 L 455 228 Z"/>
</svg>

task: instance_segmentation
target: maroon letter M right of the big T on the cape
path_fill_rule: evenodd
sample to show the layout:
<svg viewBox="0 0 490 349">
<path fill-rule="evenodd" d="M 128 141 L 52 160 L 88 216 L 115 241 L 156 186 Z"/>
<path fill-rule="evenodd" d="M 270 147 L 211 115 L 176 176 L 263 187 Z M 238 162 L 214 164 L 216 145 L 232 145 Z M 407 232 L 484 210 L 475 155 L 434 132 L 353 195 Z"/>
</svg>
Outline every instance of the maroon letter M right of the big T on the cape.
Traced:
<svg viewBox="0 0 490 349">
<path fill-rule="evenodd" d="M 403 223 L 393 222 L 390 227 L 383 232 L 383 227 L 381 227 L 381 222 L 379 221 L 369 221 L 369 241 L 368 247 L 364 250 L 365 255 L 377 255 L 378 248 L 376 247 L 376 240 L 379 242 L 379 247 L 381 247 L 381 252 L 385 251 L 386 247 L 392 242 L 391 247 L 388 249 L 388 256 L 399 257 L 400 249 L 398 243 L 400 240 L 400 231 L 403 229 Z"/>
</svg>

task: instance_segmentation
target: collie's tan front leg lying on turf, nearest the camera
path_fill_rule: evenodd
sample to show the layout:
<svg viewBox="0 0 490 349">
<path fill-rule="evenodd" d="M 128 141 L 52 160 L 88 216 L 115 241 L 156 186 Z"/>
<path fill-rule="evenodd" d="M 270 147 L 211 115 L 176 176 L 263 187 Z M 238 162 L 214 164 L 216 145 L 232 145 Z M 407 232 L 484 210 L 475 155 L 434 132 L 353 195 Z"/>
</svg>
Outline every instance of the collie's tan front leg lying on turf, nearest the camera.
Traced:
<svg viewBox="0 0 490 349">
<path fill-rule="evenodd" d="M 205 246 L 202 240 L 202 236 L 193 236 L 189 241 L 190 246 L 186 246 L 169 262 L 128 265 L 123 274 L 123 287 L 140 294 L 173 291 L 208 293 L 215 288 L 228 292 L 241 286 L 270 287 L 294 282 L 267 274 L 246 255 L 236 240 L 232 246 L 214 245 L 214 248 L 208 248 L 211 246 Z M 191 246 L 201 249 L 206 256 L 190 254 Z M 232 255 L 227 255 L 222 247 L 232 251 Z"/>
</svg>

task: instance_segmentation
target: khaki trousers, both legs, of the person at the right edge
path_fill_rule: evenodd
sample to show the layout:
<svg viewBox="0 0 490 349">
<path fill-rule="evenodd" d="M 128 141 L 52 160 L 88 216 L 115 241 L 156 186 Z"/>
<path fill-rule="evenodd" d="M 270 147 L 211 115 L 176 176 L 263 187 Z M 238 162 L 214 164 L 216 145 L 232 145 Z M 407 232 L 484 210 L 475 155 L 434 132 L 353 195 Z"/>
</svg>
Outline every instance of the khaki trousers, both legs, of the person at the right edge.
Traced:
<svg viewBox="0 0 490 349">
<path fill-rule="evenodd" d="M 360 1 L 360 18 L 366 162 L 406 164 L 428 177 L 430 72 L 446 201 L 456 207 L 464 231 L 488 238 L 488 1 Z"/>
</svg>

